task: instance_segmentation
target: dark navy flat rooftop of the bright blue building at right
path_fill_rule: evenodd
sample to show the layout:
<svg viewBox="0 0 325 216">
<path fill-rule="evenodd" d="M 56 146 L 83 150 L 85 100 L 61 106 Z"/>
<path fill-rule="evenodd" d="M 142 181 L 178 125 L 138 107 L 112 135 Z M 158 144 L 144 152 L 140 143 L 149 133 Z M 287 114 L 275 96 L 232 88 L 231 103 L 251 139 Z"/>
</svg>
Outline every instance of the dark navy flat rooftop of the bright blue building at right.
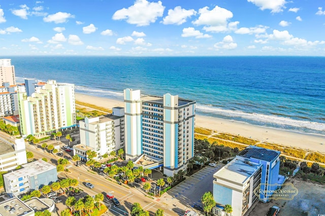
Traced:
<svg viewBox="0 0 325 216">
<path fill-rule="evenodd" d="M 280 155 L 281 152 L 264 149 L 256 146 L 249 146 L 241 151 L 238 156 L 244 158 L 255 158 L 258 160 L 271 162 Z"/>
</svg>

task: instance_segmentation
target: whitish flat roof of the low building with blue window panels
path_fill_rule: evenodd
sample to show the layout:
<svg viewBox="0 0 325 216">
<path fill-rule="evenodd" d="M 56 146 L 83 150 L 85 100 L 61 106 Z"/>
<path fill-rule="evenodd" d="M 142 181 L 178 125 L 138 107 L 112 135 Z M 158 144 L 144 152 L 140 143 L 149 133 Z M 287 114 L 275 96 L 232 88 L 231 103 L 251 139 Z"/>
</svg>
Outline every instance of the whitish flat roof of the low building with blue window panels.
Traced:
<svg viewBox="0 0 325 216">
<path fill-rule="evenodd" d="M 45 162 L 43 160 L 38 160 L 34 161 L 31 163 L 27 163 L 22 165 L 22 169 L 18 169 L 13 172 L 9 172 L 4 174 L 9 180 L 15 180 L 21 176 L 35 176 L 39 173 L 51 170 L 51 169 L 56 169 L 56 166 L 53 166 L 52 164 Z"/>
</svg>

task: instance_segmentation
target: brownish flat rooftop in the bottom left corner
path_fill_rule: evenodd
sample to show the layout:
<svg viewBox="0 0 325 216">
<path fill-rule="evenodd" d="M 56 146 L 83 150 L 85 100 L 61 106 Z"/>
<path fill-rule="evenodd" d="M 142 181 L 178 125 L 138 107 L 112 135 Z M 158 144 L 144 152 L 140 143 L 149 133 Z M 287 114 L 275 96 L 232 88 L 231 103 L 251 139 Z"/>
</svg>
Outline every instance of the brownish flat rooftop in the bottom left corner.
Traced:
<svg viewBox="0 0 325 216">
<path fill-rule="evenodd" d="M 24 215 L 33 211 L 23 201 L 17 197 L 7 199 L 0 203 L 0 215 Z"/>
</svg>

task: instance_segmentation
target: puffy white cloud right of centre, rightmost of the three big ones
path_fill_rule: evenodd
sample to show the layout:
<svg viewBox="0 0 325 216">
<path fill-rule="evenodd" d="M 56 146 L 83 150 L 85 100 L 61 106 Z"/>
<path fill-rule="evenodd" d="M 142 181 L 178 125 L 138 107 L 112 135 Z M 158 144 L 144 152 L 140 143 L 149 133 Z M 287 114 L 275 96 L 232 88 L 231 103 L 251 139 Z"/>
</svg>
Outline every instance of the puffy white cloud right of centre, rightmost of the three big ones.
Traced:
<svg viewBox="0 0 325 216">
<path fill-rule="evenodd" d="M 195 25 L 226 26 L 233 13 L 224 8 L 216 6 L 211 11 L 208 7 L 199 9 L 200 17 L 192 23 Z"/>
</svg>

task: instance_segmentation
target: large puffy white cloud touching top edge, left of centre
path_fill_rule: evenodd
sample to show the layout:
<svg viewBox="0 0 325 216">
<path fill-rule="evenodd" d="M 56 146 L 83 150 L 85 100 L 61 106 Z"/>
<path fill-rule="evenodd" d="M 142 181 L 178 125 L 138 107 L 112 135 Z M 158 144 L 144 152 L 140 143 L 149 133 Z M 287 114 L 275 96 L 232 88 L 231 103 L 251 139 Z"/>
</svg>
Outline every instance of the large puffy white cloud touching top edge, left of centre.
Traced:
<svg viewBox="0 0 325 216">
<path fill-rule="evenodd" d="M 129 24 L 146 26 L 151 22 L 155 22 L 157 17 L 163 16 L 164 10 L 165 6 L 160 1 L 155 3 L 147 0 L 137 0 L 133 6 L 116 11 L 112 19 L 125 19 Z"/>
</svg>

